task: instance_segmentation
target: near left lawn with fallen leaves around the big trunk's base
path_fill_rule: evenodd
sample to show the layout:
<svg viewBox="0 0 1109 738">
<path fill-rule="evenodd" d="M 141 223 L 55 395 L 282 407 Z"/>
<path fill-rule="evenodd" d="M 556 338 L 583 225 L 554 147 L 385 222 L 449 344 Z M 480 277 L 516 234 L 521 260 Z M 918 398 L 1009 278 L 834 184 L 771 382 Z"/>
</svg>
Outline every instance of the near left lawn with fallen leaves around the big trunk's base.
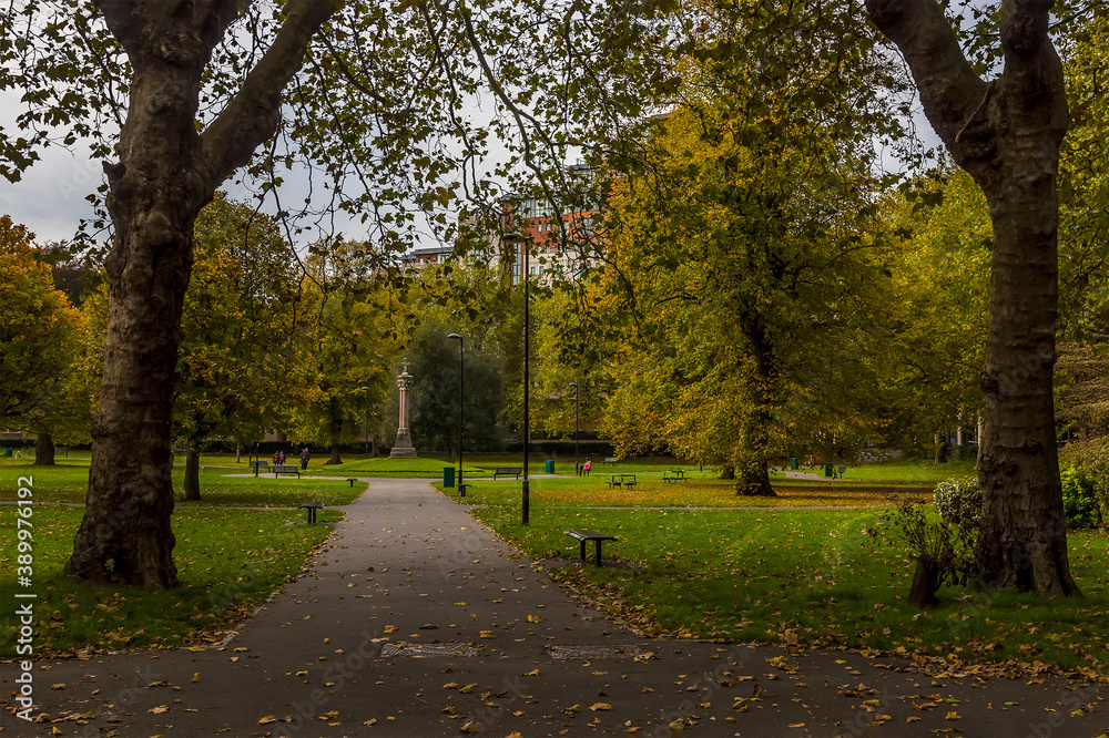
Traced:
<svg viewBox="0 0 1109 738">
<path fill-rule="evenodd" d="M 0 597 L 13 602 L 16 515 L 0 517 Z M 38 657 L 73 652 L 177 647 L 218 642 L 277 587 L 295 577 L 329 525 L 303 525 L 301 511 L 179 508 L 174 561 L 181 586 L 167 592 L 90 587 L 63 574 L 82 510 L 33 508 L 34 648 Z M 337 511 L 323 510 L 333 522 Z M 20 592 L 27 592 L 19 587 Z M 14 621 L 3 621 L 0 658 L 14 656 Z"/>
</svg>

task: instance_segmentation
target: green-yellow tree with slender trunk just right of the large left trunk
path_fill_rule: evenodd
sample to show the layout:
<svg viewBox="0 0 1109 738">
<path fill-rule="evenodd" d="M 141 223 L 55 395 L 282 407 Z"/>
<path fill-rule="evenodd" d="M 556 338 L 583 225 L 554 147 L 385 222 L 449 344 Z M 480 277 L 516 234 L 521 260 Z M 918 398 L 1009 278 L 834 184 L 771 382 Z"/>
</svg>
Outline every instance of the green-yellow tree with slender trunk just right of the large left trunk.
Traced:
<svg viewBox="0 0 1109 738">
<path fill-rule="evenodd" d="M 298 273 L 273 218 L 220 193 L 201 211 L 174 385 L 184 500 L 201 498 L 201 453 L 212 439 L 277 427 L 307 400 Z"/>
</svg>

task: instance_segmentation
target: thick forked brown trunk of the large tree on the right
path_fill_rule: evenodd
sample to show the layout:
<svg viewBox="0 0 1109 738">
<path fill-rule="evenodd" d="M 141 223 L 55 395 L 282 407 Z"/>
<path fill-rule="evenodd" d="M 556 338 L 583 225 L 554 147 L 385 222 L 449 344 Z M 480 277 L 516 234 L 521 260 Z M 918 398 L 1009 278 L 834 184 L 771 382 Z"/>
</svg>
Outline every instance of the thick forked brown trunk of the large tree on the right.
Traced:
<svg viewBox="0 0 1109 738">
<path fill-rule="evenodd" d="M 934 0 L 866 6 L 905 55 L 933 127 L 986 194 L 994 225 L 978 463 L 986 580 L 1078 595 L 1067 560 L 1051 387 L 1056 174 L 1068 125 L 1062 66 L 1047 34 L 1051 2 L 1003 2 L 1005 69 L 989 83 L 970 69 Z"/>
</svg>

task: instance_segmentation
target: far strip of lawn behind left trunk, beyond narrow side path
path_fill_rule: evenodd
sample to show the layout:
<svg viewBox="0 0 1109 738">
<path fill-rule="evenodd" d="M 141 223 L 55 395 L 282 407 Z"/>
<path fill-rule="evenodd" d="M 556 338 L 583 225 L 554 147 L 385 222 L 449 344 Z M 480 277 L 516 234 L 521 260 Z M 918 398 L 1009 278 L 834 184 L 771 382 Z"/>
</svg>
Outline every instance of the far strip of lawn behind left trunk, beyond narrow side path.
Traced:
<svg viewBox="0 0 1109 738">
<path fill-rule="evenodd" d="M 246 473 L 244 470 L 241 473 Z M 297 479 L 273 474 L 258 476 L 230 476 L 223 468 L 201 468 L 201 501 L 181 501 L 184 469 L 173 470 L 173 486 L 177 493 L 176 505 L 199 508 L 235 505 L 246 508 L 295 508 L 304 502 L 319 500 L 326 505 L 349 504 L 366 489 L 364 483 L 350 484 L 344 480 Z M 34 480 L 37 502 L 69 502 L 83 504 L 89 480 L 89 465 L 58 464 L 32 467 L 9 464 L 0 467 L 0 501 L 16 499 L 21 476 Z"/>
</svg>

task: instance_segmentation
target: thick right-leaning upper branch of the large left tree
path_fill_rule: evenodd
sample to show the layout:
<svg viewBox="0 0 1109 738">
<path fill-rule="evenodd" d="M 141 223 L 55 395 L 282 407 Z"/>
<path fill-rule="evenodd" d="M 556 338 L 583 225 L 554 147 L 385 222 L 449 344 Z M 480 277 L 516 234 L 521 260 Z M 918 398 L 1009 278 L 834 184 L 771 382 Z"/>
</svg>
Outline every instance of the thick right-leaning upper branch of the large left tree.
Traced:
<svg viewBox="0 0 1109 738">
<path fill-rule="evenodd" d="M 251 161 L 254 150 L 269 140 L 281 123 L 281 95 L 304 63 L 312 37 L 342 4 L 342 0 L 291 0 L 277 38 L 251 70 L 238 94 L 201 135 L 200 174 L 212 186 Z"/>
</svg>

